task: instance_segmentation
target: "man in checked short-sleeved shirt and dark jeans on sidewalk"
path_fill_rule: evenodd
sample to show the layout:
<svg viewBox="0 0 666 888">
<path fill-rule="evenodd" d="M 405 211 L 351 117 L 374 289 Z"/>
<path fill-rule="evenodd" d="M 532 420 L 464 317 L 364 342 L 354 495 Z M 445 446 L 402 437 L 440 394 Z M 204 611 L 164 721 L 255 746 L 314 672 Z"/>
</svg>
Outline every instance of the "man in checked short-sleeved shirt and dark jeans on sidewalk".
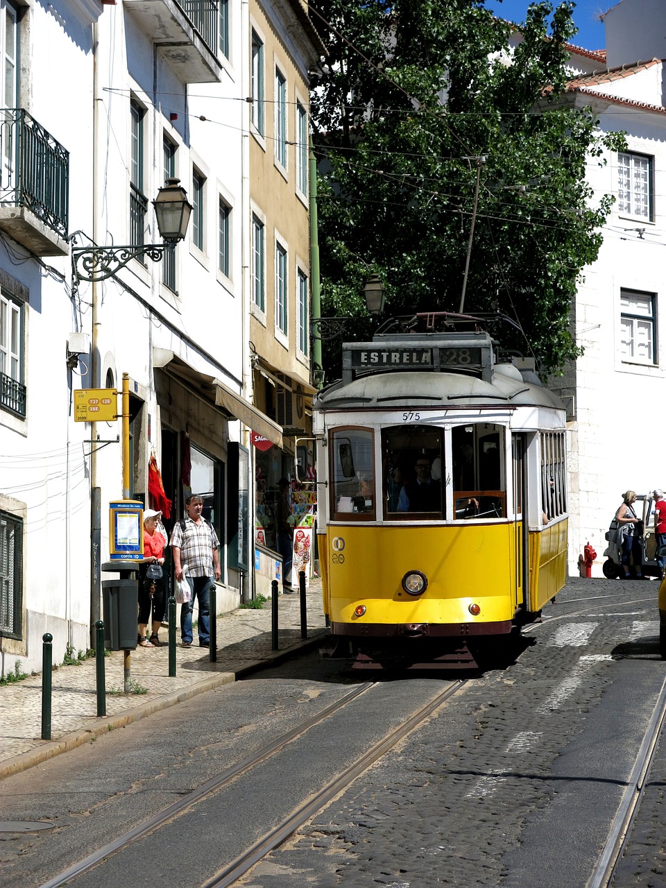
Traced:
<svg viewBox="0 0 666 888">
<path fill-rule="evenodd" d="M 201 496 L 188 496 L 185 508 L 187 518 L 177 521 L 171 531 L 176 580 L 182 580 L 183 567 L 186 566 L 186 580 L 192 591 L 191 599 L 180 606 L 180 639 L 183 647 L 192 646 L 192 611 L 196 598 L 199 605 L 199 646 L 210 647 L 210 586 L 222 575 L 219 540 L 215 528 L 202 517 Z"/>
</svg>

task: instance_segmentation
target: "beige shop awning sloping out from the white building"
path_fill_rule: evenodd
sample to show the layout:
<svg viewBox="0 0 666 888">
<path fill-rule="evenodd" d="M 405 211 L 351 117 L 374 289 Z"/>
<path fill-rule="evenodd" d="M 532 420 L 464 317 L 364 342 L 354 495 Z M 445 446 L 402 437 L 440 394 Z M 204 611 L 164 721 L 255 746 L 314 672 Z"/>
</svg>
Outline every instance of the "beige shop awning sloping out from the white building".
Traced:
<svg viewBox="0 0 666 888">
<path fill-rule="evenodd" d="M 210 377 L 200 373 L 186 364 L 172 352 L 166 349 L 154 349 L 154 366 L 160 367 L 170 377 L 176 379 L 182 385 L 194 390 L 206 400 L 210 400 L 216 407 L 240 421 L 257 432 L 262 437 L 272 441 L 278 447 L 282 447 L 282 427 L 261 410 L 258 410 L 249 400 L 242 398 L 238 392 L 225 385 L 217 377 Z"/>
</svg>

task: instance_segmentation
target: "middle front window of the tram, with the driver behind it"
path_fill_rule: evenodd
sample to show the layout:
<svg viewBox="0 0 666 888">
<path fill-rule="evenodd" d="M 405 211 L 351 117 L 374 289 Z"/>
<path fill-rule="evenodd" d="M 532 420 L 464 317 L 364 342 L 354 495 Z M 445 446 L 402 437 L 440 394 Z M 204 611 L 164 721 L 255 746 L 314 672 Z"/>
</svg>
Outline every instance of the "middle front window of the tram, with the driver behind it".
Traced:
<svg viewBox="0 0 666 888">
<path fill-rule="evenodd" d="M 385 517 L 443 517 L 444 449 L 440 429 L 399 425 L 382 429 Z"/>
</svg>

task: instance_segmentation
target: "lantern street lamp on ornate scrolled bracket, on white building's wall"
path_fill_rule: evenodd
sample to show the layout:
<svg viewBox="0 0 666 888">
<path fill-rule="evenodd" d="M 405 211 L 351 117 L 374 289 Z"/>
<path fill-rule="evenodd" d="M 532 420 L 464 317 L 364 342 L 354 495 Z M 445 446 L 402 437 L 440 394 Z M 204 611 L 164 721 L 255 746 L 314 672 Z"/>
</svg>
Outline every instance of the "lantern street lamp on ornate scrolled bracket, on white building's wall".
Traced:
<svg viewBox="0 0 666 888">
<path fill-rule="evenodd" d="M 163 244 L 131 244 L 123 247 L 72 247 L 72 267 L 80 281 L 106 281 L 131 259 L 144 256 L 160 262 L 166 250 L 173 250 L 185 238 L 192 212 L 180 179 L 168 178 L 153 201 L 157 228 Z"/>
</svg>

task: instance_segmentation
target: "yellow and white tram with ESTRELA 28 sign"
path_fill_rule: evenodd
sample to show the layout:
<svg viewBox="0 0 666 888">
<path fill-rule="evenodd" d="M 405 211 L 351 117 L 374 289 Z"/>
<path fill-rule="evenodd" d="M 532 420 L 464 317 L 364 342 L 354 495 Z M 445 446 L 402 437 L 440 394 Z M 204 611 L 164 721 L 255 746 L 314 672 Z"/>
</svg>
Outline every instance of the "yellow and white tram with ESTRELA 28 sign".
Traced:
<svg viewBox="0 0 666 888">
<path fill-rule="evenodd" d="M 324 613 L 358 665 L 473 662 L 566 578 L 561 401 L 478 321 L 427 317 L 345 344 L 313 405 Z"/>
</svg>

